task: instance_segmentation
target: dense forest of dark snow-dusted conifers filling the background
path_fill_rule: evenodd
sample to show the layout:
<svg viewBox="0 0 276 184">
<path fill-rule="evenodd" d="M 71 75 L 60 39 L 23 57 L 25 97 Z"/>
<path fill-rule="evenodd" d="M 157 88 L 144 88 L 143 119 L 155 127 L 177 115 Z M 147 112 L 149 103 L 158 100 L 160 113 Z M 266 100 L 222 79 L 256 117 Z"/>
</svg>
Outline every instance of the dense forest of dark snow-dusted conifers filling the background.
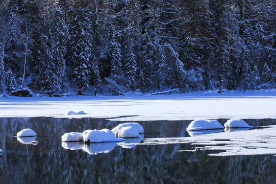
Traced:
<svg viewBox="0 0 276 184">
<path fill-rule="evenodd" d="M 274 0 L 6 0 L 0 93 L 275 88 Z"/>
</svg>

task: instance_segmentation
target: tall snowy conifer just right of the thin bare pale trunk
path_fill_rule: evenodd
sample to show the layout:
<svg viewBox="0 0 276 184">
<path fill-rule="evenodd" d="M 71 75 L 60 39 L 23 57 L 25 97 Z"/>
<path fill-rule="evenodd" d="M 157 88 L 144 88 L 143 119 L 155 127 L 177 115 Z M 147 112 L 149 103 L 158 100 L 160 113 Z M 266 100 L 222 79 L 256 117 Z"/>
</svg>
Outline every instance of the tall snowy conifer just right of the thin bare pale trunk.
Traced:
<svg viewBox="0 0 276 184">
<path fill-rule="evenodd" d="M 29 2 L 28 8 L 32 12 L 30 22 L 32 24 L 32 87 L 52 95 L 59 89 L 58 86 L 58 71 L 55 71 L 55 63 L 53 58 L 53 50 L 51 48 L 51 32 L 49 32 L 49 4 L 35 0 Z M 43 16 L 48 15 L 48 16 Z M 45 19 L 46 18 L 46 19 Z M 34 29 L 35 27 L 35 29 Z"/>
</svg>

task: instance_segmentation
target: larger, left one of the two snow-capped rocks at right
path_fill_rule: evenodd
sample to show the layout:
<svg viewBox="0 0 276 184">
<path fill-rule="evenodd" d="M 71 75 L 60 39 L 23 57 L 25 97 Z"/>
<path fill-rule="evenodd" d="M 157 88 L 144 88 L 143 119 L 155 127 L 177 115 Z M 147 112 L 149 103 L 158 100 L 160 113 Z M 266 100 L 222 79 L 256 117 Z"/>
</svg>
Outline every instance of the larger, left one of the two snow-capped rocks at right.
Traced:
<svg viewBox="0 0 276 184">
<path fill-rule="evenodd" d="M 194 120 L 187 127 L 187 131 L 210 130 L 224 128 L 217 120 Z"/>
</svg>

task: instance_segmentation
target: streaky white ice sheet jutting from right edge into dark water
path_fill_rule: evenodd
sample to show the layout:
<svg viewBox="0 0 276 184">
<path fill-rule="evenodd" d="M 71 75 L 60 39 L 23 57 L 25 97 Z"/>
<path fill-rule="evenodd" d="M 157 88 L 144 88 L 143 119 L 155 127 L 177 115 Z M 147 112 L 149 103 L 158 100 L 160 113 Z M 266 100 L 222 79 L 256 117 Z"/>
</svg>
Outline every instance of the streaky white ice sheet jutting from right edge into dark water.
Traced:
<svg viewBox="0 0 276 184">
<path fill-rule="evenodd" d="M 211 156 L 276 154 L 276 125 L 248 131 L 221 132 L 192 137 L 166 137 L 144 139 L 137 145 L 191 144 L 192 150 L 217 150 Z M 199 147 L 200 145 L 200 147 Z"/>
</svg>

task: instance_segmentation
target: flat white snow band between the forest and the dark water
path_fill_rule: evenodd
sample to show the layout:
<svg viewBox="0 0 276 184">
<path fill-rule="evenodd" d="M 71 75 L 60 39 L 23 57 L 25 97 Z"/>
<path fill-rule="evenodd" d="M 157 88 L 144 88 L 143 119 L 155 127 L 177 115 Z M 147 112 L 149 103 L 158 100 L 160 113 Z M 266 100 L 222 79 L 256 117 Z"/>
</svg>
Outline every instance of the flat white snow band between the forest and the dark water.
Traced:
<svg viewBox="0 0 276 184">
<path fill-rule="evenodd" d="M 109 118 L 117 121 L 276 118 L 276 90 L 218 94 L 0 97 L 0 117 Z M 69 111 L 86 114 L 69 114 Z"/>
</svg>

